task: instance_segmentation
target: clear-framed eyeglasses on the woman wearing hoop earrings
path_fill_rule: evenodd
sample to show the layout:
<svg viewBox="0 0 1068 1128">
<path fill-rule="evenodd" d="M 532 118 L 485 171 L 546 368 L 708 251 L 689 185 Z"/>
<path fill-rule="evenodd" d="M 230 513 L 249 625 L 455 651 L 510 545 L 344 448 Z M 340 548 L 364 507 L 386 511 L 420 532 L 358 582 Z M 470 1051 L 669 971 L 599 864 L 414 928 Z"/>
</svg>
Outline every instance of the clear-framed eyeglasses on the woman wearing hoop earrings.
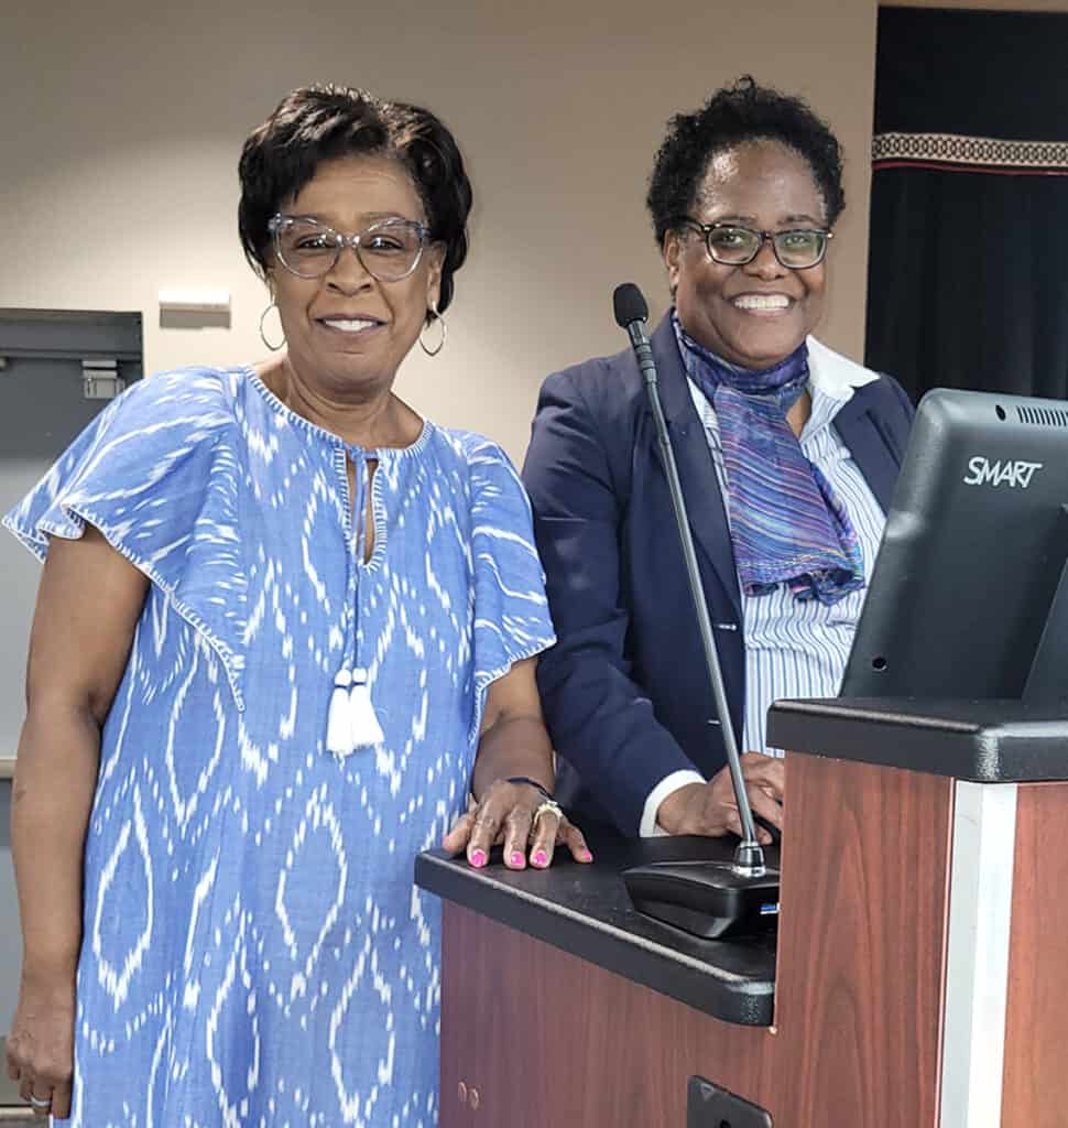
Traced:
<svg viewBox="0 0 1068 1128">
<path fill-rule="evenodd" d="M 277 212 L 267 221 L 279 262 L 301 279 L 320 279 L 352 247 L 363 268 L 379 282 L 400 282 L 420 264 L 430 230 L 422 223 L 390 217 L 355 235 L 342 235 L 308 215 Z"/>
</svg>

